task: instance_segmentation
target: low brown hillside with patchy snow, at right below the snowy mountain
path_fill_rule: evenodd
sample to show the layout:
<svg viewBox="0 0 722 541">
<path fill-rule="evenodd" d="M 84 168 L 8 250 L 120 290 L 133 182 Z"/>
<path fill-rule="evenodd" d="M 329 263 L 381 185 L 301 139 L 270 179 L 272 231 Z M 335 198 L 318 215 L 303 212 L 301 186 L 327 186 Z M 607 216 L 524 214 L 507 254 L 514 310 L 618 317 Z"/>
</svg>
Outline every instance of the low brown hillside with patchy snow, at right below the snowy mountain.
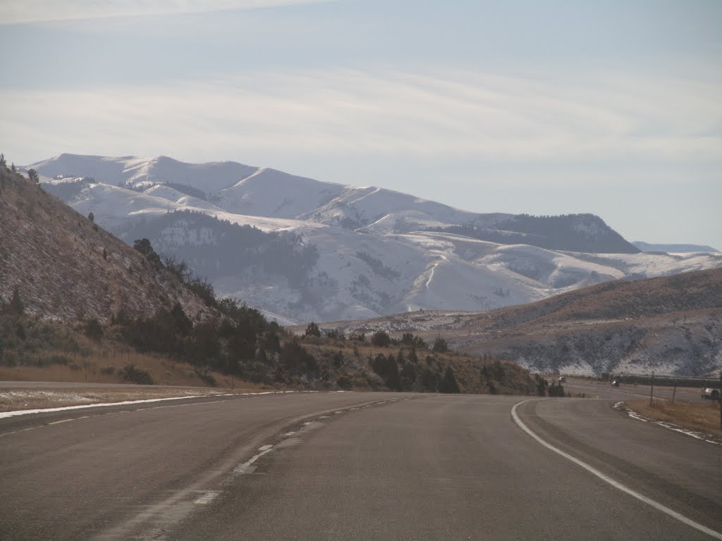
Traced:
<svg viewBox="0 0 722 541">
<path fill-rule="evenodd" d="M 534 371 L 710 374 L 722 369 L 722 269 L 611 281 L 484 314 L 425 311 L 326 326 L 443 335 L 459 351 Z"/>
</svg>

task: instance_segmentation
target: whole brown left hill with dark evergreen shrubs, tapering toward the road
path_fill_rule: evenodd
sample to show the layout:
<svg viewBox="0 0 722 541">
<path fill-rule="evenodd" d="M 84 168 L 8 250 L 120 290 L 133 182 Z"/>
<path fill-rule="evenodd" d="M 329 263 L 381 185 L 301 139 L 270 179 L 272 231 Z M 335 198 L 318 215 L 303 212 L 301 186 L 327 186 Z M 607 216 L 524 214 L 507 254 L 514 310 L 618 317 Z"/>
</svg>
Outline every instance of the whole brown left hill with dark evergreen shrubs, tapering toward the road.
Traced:
<svg viewBox="0 0 722 541">
<path fill-rule="evenodd" d="M 497 360 L 481 372 L 473 356 L 419 342 L 295 338 L 258 310 L 217 299 L 202 281 L 199 293 L 178 260 L 162 260 L 146 239 L 126 245 L 95 224 L 95 216 L 82 216 L 8 170 L 2 158 L 0 377 L 210 386 L 235 377 L 266 388 L 539 390 L 540 380 L 516 364 Z M 261 265 L 295 251 L 293 237 L 251 227 L 241 232 L 245 258 Z M 313 256 L 309 247 L 290 263 L 303 267 Z"/>
</svg>

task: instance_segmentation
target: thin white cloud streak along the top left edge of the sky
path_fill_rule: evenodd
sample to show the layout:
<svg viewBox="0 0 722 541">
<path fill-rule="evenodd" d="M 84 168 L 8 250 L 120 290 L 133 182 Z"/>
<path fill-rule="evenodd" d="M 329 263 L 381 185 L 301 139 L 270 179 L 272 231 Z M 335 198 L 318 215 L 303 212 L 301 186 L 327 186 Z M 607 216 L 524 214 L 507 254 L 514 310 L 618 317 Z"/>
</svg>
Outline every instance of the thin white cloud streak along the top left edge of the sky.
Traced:
<svg viewBox="0 0 722 541">
<path fill-rule="evenodd" d="M 5 0 L 0 25 L 258 9 L 333 0 Z"/>
</svg>

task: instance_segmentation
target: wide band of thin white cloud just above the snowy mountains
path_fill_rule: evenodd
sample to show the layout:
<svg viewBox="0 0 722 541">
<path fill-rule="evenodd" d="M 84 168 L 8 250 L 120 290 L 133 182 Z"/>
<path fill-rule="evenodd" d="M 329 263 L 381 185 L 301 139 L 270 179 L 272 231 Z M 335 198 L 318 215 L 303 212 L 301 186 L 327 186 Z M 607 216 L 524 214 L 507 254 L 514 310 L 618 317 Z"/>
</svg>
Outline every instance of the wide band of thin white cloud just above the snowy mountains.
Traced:
<svg viewBox="0 0 722 541">
<path fill-rule="evenodd" d="M 242 149 L 371 159 L 713 164 L 722 161 L 720 94 L 720 84 L 640 76 L 551 83 L 468 71 L 261 73 L 81 92 L 8 90 L 0 92 L 6 105 L 0 131 L 32 141 L 33 154 L 52 153 L 48 144 L 54 149 L 57 141 L 90 151 L 100 131 L 107 148 L 158 149 L 162 141 L 164 151 L 181 157 L 199 150 L 232 157 Z"/>
</svg>

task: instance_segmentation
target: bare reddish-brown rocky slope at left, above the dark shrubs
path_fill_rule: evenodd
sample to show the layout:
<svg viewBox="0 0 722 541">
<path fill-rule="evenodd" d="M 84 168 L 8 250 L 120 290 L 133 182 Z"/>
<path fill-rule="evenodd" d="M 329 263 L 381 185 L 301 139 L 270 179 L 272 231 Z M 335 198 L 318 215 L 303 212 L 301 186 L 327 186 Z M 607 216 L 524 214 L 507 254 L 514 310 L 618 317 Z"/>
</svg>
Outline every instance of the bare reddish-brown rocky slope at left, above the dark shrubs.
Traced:
<svg viewBox="0 0 722 541">
<path fill-rule="evenodd" d="M 172 273 L 78 214 L 40 185 L 0 167 L 0 298 L 15 289 L 30 315 L 108 322 L 180 302 L 193 320 L 204 302 Z"/>
</svg>

